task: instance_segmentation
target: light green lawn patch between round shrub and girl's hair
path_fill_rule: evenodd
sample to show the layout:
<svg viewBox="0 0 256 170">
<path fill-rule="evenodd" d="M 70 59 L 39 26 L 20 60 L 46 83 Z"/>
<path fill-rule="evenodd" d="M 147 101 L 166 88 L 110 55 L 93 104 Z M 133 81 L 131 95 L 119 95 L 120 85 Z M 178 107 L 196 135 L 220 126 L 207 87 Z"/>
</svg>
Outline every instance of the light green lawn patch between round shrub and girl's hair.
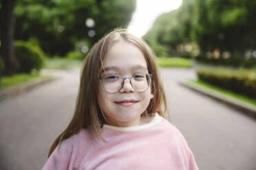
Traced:
<svg viewBox="0 0 256 170">
<path fill-rule="evenodd" d="M 44 68 L 47 69 L 74 69 L 82 66 L 83 61 L 67 58 L 47 58 Z"/>
</svg>

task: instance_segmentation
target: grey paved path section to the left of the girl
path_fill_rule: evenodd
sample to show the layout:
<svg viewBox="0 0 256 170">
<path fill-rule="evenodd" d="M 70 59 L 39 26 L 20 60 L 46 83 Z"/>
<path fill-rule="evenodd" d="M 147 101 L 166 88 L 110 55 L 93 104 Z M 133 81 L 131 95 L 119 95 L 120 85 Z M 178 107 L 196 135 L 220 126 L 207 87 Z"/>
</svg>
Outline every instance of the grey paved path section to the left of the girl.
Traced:
<svg viewBox="0 0 256 170">
<path fill-rule="evenodd" d="M 0 102 L 0 169 L 41 169 L 54 138 L 74 112 L 78 71 Z"/>
</svg>

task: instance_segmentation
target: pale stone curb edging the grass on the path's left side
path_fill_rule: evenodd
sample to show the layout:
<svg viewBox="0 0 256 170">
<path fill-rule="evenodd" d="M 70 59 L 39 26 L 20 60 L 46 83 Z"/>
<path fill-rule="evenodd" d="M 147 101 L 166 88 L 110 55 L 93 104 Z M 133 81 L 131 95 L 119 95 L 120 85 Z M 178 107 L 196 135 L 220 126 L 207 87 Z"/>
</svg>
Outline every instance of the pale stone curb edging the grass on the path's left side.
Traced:
<svg viewBox="0 0 256 170">
<path fill-rule="evenodd" d="M 47 82 L 52 82 L 54 80 L 58 80 L 59 78 L 60 77 L 48 77 L 48 78 L 41 77 L 41 78 L 37 78 L 35 80 L 31 80 L 29 82 L 23 82 L 16 86 L 4 88 L 3 90 L 0 90 L 0 101 L 3 99 L 6 99 L 8 97 L 13 97 L 15 95 L 19 95 L 25 91 L 35 88 L 36 86 L 39 86 L 41 84 L 45 84 Z"/>
</svg>

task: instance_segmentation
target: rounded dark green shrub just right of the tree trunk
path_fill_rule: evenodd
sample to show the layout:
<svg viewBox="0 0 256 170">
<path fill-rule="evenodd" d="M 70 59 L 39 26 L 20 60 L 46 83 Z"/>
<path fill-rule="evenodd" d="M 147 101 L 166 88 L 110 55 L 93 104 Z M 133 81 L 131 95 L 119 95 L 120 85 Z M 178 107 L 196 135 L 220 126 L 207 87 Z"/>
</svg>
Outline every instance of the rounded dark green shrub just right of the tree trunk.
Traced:
<svg viewBox="0 0 256 170">
<path fill-rule="evenodd" d="M 44 53 L 33 42 L 16 41 L 14 42 L 14 53 L 20 65 L 19 72 L 30 73 L 33 69 L 39 71 L 44 62 Z"/>
</svg>

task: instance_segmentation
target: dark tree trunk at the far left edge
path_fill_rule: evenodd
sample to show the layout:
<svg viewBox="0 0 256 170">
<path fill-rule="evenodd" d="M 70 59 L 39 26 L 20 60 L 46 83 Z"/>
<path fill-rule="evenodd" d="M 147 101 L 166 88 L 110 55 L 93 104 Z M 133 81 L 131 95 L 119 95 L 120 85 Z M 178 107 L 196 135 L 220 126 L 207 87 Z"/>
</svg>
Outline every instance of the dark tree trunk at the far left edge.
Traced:
<svg viewBox="0 0 256 170">
<path fill-rule="evenodd" d="M 1 1 L 1 57 L 4 62 L 3 73 L 11 75 L 19 69 L 19 64 L 14 57 L 14 4 L 16 0 Z"/>
</svg>

